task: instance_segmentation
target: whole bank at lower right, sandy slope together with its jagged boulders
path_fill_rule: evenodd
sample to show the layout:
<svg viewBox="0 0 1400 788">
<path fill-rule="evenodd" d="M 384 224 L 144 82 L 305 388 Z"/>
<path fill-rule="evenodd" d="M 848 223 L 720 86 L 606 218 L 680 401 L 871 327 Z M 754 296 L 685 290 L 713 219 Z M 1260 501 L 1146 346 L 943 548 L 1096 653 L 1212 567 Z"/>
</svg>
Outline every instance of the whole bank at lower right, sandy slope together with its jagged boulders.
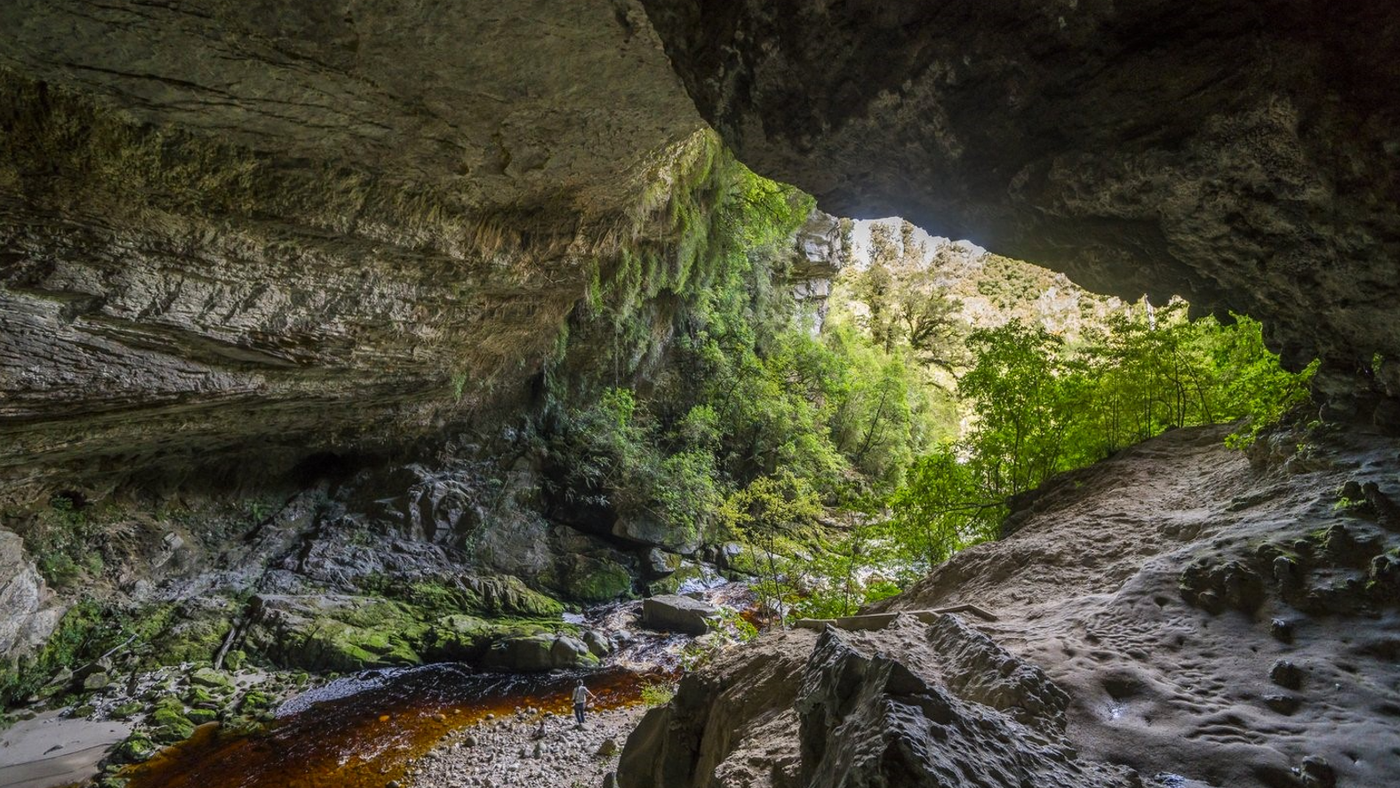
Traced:
<svg viewBox="0 0 1400 788">
<path fill-rule="evenodd" d="M 1225 432 L 1056 479 L 874 605 L 910 613 L 888 626 L 767 633 L 686 676 L 619 784 L 1393 784 L 1397 444 L 1322 428 L 1246 458 Z M 963 605 L 995 619 L 916 614 Z"/>
</svg>

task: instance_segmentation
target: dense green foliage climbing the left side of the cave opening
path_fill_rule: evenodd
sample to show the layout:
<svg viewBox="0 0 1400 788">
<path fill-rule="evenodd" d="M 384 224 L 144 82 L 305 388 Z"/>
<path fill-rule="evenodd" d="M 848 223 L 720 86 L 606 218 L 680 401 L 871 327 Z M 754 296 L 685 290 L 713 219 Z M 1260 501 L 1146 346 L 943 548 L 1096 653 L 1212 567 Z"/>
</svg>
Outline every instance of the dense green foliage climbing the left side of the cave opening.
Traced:
<svg viewBox="0 0 1400 788">
<path fill-rule="evenodd" d="M 762 477 L 825 498 L 897 483 L 934 432 L 931 409 L 902 354 L 850 326 L 809 330 L 788 281 L 811 197 L 717 143 L 669 182 L 655 202 L 675 241 L 599 265 L 546 371 L 533 431 L 556 508 L 696 540 Z"/>
</svg>

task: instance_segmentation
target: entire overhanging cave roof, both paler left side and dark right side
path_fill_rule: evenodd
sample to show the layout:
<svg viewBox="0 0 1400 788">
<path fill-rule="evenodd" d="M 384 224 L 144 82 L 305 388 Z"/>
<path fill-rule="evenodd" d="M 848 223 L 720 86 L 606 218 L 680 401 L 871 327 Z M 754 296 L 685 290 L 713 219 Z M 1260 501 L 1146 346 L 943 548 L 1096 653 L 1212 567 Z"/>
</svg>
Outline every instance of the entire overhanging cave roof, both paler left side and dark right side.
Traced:
<svg viewBox="0 0 1400 788">
<path fill-rule="evenodd" d="M 886 6 L 7 3 L 6 500 L 518 396 L 696 106 L 826 210 L 1247 311 L 1334 416 L 1400 392 L 1392 4 Z"/>
</svg>

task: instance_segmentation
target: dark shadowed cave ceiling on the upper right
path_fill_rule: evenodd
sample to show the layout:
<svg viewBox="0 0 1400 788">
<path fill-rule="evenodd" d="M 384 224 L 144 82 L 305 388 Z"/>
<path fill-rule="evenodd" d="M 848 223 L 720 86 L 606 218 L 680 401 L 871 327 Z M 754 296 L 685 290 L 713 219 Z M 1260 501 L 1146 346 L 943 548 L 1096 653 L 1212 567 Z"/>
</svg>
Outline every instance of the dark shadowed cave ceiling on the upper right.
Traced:
<svg viewBox="0 0 1400 788">
<path fill-rule="evenodd" d="M 1249 312 L 1336 416 L 1400 393 L 1393 3 L 645 6 L 700 113 L 823 210 Z"/>
</svg>

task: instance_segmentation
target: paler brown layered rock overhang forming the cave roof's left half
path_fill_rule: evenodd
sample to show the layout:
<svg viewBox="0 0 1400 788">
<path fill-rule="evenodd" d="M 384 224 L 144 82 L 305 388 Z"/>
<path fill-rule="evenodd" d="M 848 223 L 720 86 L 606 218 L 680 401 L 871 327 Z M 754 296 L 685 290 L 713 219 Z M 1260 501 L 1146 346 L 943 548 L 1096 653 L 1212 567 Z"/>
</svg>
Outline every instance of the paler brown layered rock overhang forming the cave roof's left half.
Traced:
<svg viewBox="0 0 1400 788">
<path fill-rule="evenodd" d="M 700 122 L 640 7 L 0 8 L 0 502 L 519 396 Z"/>
</svg>

